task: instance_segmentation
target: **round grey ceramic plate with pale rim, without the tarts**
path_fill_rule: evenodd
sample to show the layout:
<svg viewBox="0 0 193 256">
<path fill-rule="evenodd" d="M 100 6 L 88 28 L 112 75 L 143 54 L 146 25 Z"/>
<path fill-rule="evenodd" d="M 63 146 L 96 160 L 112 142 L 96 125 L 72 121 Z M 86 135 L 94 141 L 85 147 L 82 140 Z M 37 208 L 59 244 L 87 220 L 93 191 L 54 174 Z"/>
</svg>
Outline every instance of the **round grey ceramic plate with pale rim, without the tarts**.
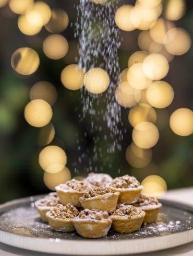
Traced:
<svg viewBox="0 0 193 256">
<path fill-rule="evenodd" d="M 43 223 L 31 196 L 0 206 L 0 241 L 33 251 L 69 255 L 131 254 L 171 248 L 193 241 L 193 207 L 162 200 L 156 223 L 131 234 L 110 231 L 105 238 L 84 239 L 75 232 L 64 234 Z"/>
</svg>

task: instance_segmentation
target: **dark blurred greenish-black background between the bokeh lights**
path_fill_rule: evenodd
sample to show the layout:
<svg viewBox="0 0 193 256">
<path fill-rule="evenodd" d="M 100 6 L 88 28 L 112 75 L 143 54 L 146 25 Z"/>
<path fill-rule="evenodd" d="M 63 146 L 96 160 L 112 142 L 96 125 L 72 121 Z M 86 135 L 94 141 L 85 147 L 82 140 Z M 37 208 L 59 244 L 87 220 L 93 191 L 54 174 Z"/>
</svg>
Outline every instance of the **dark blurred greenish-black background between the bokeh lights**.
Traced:
<svg viewBox="0 0 193 256">
<path fill-rule="evenodd" d="M 78 0 L 49 1 L 45 0 L 51 8 L 63 8 L 69 17 L 68 28 L 62 32 L 69 45 L 74 41 L 74 26 L 76 21 L 76 8 Z M 119 5 L 128 1 L 119 1 Z M 135 3 L 135 1 L 130 1 Z M 192 1 L 187 1 L 187 11 L 184 17 L 175 21 L 176 27 L 185 28 L 192 38 L 193 15 Z M 87 166 L 79 164 L 80 154 L 87 153 L 93 147 L 93 136 L 104 137 L 107 129 L 104 123 L 102 132 L 90 131 L 90 117 L 87 115 L 79 122 L 82 112 L 80 91 L 70 91 L 61 83 L 62 69 L 75 63 L 77 48 L 62 60 L 54 61 L 45 56 L 42 50 L 43 40 L 49 36 L 44 28 L 35 36 L 22 34 L 17 26 L 16 14 L 11 13 L 8 6 L 0 9 L 0 202 L 24 197 L 33 194 L 46 193 L 43 182 L 43 170 L 38 164 L 38 155 L 42 147 L 37 146 L 39 129 L 30 126 L 23 117 L 23 109 L 29 102 L 29 90 L 38 81 L 46 80 L 52 83 L 58 92 L 58 98 L 53 106 L 53 120 L 55 138 L 51 145 L 58 145 L 65 149 L 71 176 L 86 176 Z M 72 26 L 71 26 L 72 24 Z M 122 32 L 123 41 L 119 50 L 119 65 L 123 70 L 127 67 L 129 56 L 137 50 L 139 30 Z M 10 65 L 11 55 L 20 47 L 31 47 L 40 56 L 40 67 L 31 76 L 17 74 Z M 192 66 L 193 49 L 182 55 L 175 56 L 170 62 L 170 71 L 164 80 L 174 88 L 175 97 L 172 104 L 164 110 L 164 122 L 168 123 L 170 114 L 177 108 L 192 108 Z M 104 96 L 102 96 L 104 97 Z M 159 111 L 159 110 L 158 110 Z M 128 123 L 128 109 L 122 108 L 123 129 L 126 129 L 122 142 L 122 150 L 114 154 L 106 153 L 107 142 L 101 139 L 99 146 L 102 157 L 94 163 L 98 171 L 104 171 L 113 177 L 129 173 L 135 175 L 140 181 L 150 174 L 158 174 L 167 183 L 168 189 L 188 187 L 193 185 L 192 166 L 192 135 L 181 137 L 172 132 L 170 126 L 160 131 L 158 144 L 153 148 L 151 164 L 142 169 L 132 168 L 125 159 L 125 150 L 131 143 L 132 127 Z M 100 120 L 96 120 L 100 123 Z M 160 121 L 162 122 L 162 120 Z M 87 135 L 85 136 L 85 132 Z M 78 150 L 77 139 L 81 142 Z M 82 140 L 82 141 L 81 141 Z M 85 165 L 88 159 L 85 159 Z M 75 173 L 75 168 L 76 173 Z"/>
</svg>

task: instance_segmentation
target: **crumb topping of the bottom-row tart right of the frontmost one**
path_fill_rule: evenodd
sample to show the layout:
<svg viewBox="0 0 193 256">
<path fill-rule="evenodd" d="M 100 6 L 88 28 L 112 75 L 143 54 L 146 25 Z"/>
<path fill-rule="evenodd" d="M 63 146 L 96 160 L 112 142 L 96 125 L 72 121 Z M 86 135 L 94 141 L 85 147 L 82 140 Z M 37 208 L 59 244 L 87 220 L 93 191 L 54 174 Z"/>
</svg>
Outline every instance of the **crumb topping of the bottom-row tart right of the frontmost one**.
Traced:
<svg viewBox="0 0 193 256">
<path fill-rule="evenodd" d="M 139 215 L 141 213 L 141 211 L 138 211 L 136 207 L 132 206 L 132 205 L 124 205 L 124 204 L 120 204 L 116 210 L 111 213 L 112 217 L 127 217 L 127 218 L 131 218 L 131 217 L 135 217 L 137 215 Z"/>
</svg>

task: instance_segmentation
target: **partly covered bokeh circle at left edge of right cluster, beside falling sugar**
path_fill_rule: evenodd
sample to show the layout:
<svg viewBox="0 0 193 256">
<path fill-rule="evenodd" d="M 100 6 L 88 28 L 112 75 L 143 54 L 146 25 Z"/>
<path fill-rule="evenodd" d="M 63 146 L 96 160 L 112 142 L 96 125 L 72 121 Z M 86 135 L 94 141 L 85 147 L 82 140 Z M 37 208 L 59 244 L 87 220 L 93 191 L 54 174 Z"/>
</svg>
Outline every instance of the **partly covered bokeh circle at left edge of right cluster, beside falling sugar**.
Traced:
<svg viewBox="0 0 193 256">
<path fill-rule="evenodd" d="M 120 106 L 131 108 L 140 100 L 141 92 L 129 85 L 128 82 L 122 82 L 115 90 L 115 99 Z"/>
</svg>

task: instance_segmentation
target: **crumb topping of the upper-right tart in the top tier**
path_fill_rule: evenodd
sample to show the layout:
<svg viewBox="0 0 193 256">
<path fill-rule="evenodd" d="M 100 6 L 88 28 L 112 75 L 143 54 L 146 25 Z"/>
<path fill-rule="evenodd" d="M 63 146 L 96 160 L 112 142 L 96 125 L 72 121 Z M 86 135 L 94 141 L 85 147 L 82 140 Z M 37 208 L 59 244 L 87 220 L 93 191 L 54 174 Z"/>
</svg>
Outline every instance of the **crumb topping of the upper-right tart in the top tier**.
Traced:
<svg viewBox="0 0 193 256">
<path fill-rule="evenodd" d="M 116 177 L 110 183 L 108 183 L 108 186 L 116 189 L 137 188 L 139 185 L 139 181 L 134 176 L 129 175 Z"/>
</svg>

